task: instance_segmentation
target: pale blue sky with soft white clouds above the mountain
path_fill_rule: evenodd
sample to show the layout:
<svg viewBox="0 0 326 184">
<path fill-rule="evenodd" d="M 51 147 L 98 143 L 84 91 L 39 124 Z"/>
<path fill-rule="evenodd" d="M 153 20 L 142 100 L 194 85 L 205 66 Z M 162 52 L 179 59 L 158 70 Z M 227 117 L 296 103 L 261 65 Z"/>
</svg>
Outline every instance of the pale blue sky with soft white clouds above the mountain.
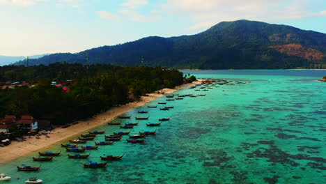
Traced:
<svg viewBox="0 0 326 184">
<path fill-rule="evenodd" d="M 242 19 L 326 33 L 326 0 L 0 0 L 0 55 L 75 53 Z"/>
</svg>

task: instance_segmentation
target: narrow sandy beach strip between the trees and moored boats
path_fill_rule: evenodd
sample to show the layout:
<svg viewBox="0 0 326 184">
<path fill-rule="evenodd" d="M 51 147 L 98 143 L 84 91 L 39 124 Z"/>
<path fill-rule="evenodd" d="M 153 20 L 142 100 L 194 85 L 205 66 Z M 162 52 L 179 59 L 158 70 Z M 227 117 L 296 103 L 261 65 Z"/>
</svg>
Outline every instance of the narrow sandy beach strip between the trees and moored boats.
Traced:
<svg viewBox="0 0 326 184">
<path fill-rule="evenodd" d="M 162 89 L 160 91 L 164 91 L 164 95 L 166 95 L 178 91 L 180 89 L 184 89 L 187 86 L 192 86 L 199 83 L 200 82 L 183 84 L 181 86 L 177 86 L 175 89 Z M 158 94 L 157 91 L 155 91 L 155 93 L 150 93 L 146 96 L 141 97 L 141 100 L 139 102 L 131 102 L 127 105 L 122 105 L 121 107 L 110 109 L 109 111 L 93 116 L 88 120 L 79 121 L 78 124 L 72 125 L 68 128 L 56 128 L 54 131 L 52 131 L 52 134 L 49 135 L 49 138 L 41 136 L 41 139 L 31 137 L 27 138 L 26 141 L 22 142 L 14 141 L 12 144 L 10 144 L 10 146 L 0 147 L 0 164 L 8 162 L 10 160 L 15 160 L 22 156 L 30 155 L 31 153 L 37 153 L 38 151 L 45 148 L 49 148 L 54 144 L 66 141 L 71 137 L 76 137 L 83 132 L 86 132 L 93 128 L 98 128 L 101 125 L 112 121 L 117 116 L 125 114 L 126 112 L 129 112 L 134 108 L 146 105 L 148 102 L 160 98 L 162 96 L 162 93 Z"/>
</svg>

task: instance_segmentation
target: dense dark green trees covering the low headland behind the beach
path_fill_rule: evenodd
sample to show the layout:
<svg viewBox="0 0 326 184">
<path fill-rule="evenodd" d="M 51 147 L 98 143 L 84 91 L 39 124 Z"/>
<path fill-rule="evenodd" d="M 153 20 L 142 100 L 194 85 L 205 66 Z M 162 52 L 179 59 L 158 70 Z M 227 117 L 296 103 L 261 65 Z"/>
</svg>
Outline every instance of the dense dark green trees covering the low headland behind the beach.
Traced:
<svg viewBox="0 0 326 184">
<path fill-rule="evenodd" d="M 88 70 L 86 69 L 88 68 Z M 72 79 L 71 91 L 50 85 Z M 0 116 L 30 114 L 34 118 L 53 117 L 54 124 L 65 124 L 103 112 L 114 105 L 137 100 L 140 95 L 183 84 L 178 70 L 145 66 L 83 66 L 54 63 L 49 66 L 3 66 L 0 82 L 20 81 L 37 84 L 0 90 Z M 193 77 L 189 77 L 192 80 Z M 132 98 L 130 98 L 132 96 Z"/>
</svg>

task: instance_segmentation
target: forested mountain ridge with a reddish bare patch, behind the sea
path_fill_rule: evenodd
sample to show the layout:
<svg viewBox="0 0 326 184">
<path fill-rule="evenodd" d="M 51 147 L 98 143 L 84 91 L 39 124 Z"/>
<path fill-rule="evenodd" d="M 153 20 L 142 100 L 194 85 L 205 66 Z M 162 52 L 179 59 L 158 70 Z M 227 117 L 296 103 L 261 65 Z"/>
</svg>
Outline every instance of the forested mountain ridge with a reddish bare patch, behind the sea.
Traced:
<svg viewBox="0 0 326 184">
<path fill-rule="evenodd" d="M 167 68 L 326 68 L 326 34 L 248 20 L 221 22 L 193 36 L 148 37 L 77 54 L 51 54 L 33 65 L 54 62 L 110 63 Z M 24 61 L 17 63 L 24 64 Z"/>
</svg>

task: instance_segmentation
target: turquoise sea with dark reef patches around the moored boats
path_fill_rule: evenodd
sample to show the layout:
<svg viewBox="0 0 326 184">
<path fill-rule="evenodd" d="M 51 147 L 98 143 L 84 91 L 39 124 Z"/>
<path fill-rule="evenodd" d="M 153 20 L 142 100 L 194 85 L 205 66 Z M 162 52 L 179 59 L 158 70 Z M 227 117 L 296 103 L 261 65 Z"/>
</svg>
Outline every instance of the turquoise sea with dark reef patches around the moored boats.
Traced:
<svg viewBox="0 0 326 184">
<path fill-rule="evenodd" d="M 38 176 L 44 183 L 325 183 L 326 181 L 326 83 L 316 82 L 323 70 L 205 70 L 184 71 L 198 78 L 222 78 L 246 84 L 222 85 L 209 91 L 183 89 L 178 94 L 202 94 L 167 102 L 169 111 L 149 110 L 148 121 L 132 129 L 157 130 L 144 144 L 128 144 L 123 137 L 100 146 L 88 160 L 100 155 L 122 155 L 106 168 L 84 169 L 83 160 L 68 160 L 66 152 L 52 162 L 29 157 L 0 165 L 0 173 L 12 176 L 7 183 L 24 183 Z M 149 105 L 165 101 L 159 98 Z M 163 107 L 164 105 L 158 105 Z M 142 116 L 147 116 L 143 114 Z M 146 127 L 158 118 L 171 117 L 160 127 Z M 119 131 L 104 125 L 97 130 Z M 95 141 L 102 141 L 98 135 Z M 93 141 L 90 141 L 93 145 Z M 63 150 L 59 145 L 49 151 Z M 1 148 L 0 148 L 1 151 Z M 84 160 L 84 162 L 87 160 Z M 42 168 L 17 172 L 20 164 Z M 15 178 L 22 178 L 17 180 Z"/>
</svg>

